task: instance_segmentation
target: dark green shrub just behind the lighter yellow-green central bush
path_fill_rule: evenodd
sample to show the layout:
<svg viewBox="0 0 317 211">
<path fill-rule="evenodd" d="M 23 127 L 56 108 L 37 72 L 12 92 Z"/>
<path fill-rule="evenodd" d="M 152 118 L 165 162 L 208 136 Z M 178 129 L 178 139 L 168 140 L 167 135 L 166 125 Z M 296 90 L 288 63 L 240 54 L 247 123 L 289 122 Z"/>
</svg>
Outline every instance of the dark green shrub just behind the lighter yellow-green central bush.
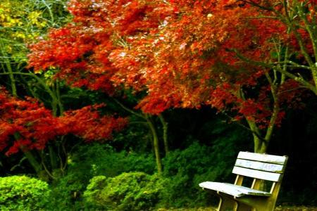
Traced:
<svg viewBox="0 0 317 211">
<path fill-rule="evenodd" d="M 123 172 L 156 172 L 155 158 L 151 154 L 117 153 L 107 144 L 91 143 L 81 146 L 71 158 L 69 172 L 73 172 L 86 186 L 95 176 L 116 177 Z M 88 179 L 87 179 L 88 178 Z"/>
</svg>

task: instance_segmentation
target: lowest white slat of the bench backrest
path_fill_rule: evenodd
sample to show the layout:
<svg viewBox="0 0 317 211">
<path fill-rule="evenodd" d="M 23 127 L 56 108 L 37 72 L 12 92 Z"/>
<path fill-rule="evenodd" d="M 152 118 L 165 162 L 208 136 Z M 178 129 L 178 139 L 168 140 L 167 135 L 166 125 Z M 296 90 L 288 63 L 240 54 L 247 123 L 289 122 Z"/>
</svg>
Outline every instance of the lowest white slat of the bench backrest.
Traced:
<svg viewBox="0 0 317 211">
<path fill-rule="evenodd" d="M 247 176 L 247 177 L 253 177 L 257 179 L 265 179 L 268 181 L 280 181 L 280 178 L 281 178 L 281 174 L 278 174 L 278 173 L 250 170 L 250 169 L 237 167 L 237 166 L 233 168 L 232 173 Z"/>
</svg>

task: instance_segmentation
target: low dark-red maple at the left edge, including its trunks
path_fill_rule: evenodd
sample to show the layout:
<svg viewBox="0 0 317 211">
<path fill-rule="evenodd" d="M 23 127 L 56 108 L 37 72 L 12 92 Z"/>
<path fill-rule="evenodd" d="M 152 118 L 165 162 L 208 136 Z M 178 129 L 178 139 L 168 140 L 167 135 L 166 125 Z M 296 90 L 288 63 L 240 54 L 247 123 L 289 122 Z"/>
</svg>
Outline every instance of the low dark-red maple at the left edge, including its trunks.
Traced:
<svg viewBox="0 0 317 211">
<path fill-rule="evenodd" d="M 57 179 L 68 164 L 68 136 L 78 136 L 85 141 L 106 141 L 113 138 L 113 132 L 128 124 L 127 118 L 101 115 L 98 111 L 101 106 L 70 110 L 55 117 L 52 110 L 35 99 L 21 101 L 1 87 L 0 151 L 6 151 L 6 155 L 22 151 L 39 178 L 45 179 L 48 175 Z M 53 150 L 54 146 L 57 151 Z"/>
</svg>

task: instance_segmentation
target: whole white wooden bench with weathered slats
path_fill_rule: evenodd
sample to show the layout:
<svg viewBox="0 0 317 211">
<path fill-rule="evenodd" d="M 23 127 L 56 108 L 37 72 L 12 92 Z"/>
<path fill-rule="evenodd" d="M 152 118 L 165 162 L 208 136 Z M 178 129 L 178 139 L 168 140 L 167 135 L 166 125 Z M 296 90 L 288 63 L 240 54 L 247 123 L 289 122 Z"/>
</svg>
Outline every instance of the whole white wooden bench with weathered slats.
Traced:
<svg viewBox="0 0 317 211">
<path fill-rule="evenodd" d="M 219 211 L 273 211 L 287 159 L 287 156 L 240 152 L 232 170 L 237 174 L 235 184 L 205 181 L 199 186 L 220 197 Z M 251 188 L 242 186 L 244 176 L 254 178 Z M 270 192 L 259 191 L 262 180 L 272 181 Z"/>
</svg>

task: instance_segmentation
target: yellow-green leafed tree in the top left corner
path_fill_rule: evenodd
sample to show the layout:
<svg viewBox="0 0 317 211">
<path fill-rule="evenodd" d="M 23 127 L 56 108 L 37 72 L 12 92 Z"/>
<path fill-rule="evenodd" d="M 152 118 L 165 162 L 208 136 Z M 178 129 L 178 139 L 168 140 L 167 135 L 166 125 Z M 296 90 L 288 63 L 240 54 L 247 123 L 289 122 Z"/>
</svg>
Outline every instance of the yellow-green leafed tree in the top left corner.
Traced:
<svg viewBox="0 0 317 211">
<path fill-rule="evenodd" d="M 44 36 L 50 27 L 60 27 L 68 21 L 66 1 L 1 1 L 0 10 L 0 63 L 1 84 L 11 90 L 13 96 L 26 94 L 39 101 L 51 97 L 50 106 L 54 115 L 63 113 L 60 89 L 63 82 L 51 80 L 54 70 L 35 75 L 25 69 L 26 44 L 36 37 Z M 23 91 L 21 91 L 23 90 Z"/>
</svg>

